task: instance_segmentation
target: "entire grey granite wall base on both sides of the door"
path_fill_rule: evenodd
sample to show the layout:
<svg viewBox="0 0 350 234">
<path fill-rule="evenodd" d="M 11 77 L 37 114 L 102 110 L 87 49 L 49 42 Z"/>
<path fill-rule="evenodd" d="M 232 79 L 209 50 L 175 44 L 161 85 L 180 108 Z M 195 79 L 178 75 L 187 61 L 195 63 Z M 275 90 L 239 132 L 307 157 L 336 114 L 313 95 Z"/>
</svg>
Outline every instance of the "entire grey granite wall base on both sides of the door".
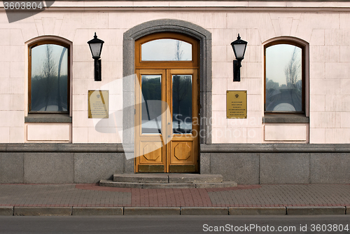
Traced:
<svg viewBox="0 0 350 234">
<path fill-rule="evenodd" d="M 0 183 L 97 183 L 133 173 L 121 144 L 0 144 Z M 201 174 L 237 184 L 349 184 L 347 144 L 201 144 Z"/>
</svg>

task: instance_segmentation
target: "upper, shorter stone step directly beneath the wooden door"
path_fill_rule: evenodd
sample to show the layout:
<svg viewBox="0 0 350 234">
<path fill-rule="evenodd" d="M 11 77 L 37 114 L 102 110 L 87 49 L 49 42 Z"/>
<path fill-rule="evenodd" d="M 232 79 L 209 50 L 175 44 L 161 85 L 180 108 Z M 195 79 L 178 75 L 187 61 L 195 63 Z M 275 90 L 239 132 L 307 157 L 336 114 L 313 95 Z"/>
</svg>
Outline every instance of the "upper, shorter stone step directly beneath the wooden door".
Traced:
<svg viewBox="0 0 350 234">
<path fill-rule="evenodd" d="M 145 173 L 145 174 L 114 174 L 113 181 L 141 184 L 168 183 L 221 183 L 221 174 L 179 174 L 179 173 Z"/>
</svg>

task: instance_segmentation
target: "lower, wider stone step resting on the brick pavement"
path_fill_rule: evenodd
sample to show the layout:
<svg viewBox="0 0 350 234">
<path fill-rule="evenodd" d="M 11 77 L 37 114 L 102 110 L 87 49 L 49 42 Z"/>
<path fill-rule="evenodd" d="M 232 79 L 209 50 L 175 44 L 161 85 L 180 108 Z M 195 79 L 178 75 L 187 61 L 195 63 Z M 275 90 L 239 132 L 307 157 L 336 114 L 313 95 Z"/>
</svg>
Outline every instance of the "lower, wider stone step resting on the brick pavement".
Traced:
<svg viewBox="0 0 350 234">
<path fill-rule="evenodd" d="M 234 181 L 221 183 L 135 183 L 101 180 L 99 181 L 99 186 L 116 188 L 230 188 L 236 187 L 237 183 Z"/>
</svg>

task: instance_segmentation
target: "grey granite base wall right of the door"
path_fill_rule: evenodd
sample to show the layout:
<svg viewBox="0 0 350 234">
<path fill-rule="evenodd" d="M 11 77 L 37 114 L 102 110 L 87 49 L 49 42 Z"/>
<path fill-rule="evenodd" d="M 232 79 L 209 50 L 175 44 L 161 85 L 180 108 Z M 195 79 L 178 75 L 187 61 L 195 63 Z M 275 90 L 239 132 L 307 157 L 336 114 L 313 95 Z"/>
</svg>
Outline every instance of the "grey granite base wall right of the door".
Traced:
<svg viewBox="0 0 350 234">
<path fill-rule="evenodd" d="M 349 144 L 201 145 L 201 174 L 237 184 L 349 184 Z"/>
</svg>

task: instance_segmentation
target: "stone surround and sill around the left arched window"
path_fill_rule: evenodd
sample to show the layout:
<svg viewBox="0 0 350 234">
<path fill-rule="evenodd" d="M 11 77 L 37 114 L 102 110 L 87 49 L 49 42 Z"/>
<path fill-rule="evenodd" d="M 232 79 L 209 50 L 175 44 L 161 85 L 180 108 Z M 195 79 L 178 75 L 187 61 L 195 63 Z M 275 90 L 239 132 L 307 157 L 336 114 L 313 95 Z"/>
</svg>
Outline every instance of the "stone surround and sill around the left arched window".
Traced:
<svg viewBox="0 0 350 234">
<path fill-rule="evenodd" d="M 29 45 L 33 44 L 38 41 L 59 41 L 62 43 L 65 43 L 69 46 L 69 56 L 72 58 L 73 57 L 73 43 L 67 39 L 64 39 L 60 36 L 38 36 L 34 39 L 30 39 L 29 41 L 25 42 L 25 49 L 27 50 L 27 53 L 25 53 L 25 71 L 28 71 L 28 51 L 29 51 Z M 69 61 L 69 67 L 72 67 L 73 60 L 71 59 Z M 28 95 L 25 95 L 25 123 L 71 123 L 71 112 L 72 112 L 72 71 L 73 69 L 69 69 L 69 77 L 70 77 L 70 97 L 69 97 L 69 113 L 28 113 Z M 28 93 L 28 88 L 29 88 L 29 74 L 28 72 L 25 73 L 25 90 L 27 90 Z"/>
</svg>

